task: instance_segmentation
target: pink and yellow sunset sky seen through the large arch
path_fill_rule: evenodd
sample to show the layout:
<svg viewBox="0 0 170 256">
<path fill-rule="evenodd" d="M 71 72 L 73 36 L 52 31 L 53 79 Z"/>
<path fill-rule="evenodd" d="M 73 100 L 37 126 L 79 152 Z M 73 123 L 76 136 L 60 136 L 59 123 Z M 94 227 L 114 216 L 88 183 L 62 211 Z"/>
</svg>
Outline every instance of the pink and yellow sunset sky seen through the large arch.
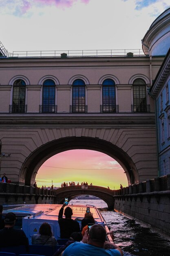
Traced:
<svg viewBox="0 0 170 256">
<path fill-rule="evenodd" d="M 67 183 L 92 182 L 96 186 L 119 189 L 128 180 L 124 169 L 112 157 L 94 150 L 74 149 L 58 153 L 42 164 L 35 178 L 37 185 L 61 186 Z"/>
</svg>

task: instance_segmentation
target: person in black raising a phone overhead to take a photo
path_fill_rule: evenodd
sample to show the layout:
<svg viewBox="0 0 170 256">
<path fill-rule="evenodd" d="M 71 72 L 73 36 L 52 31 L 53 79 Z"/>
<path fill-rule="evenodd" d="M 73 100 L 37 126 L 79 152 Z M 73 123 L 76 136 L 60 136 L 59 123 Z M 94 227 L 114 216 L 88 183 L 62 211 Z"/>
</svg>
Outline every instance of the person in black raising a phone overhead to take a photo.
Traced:
<svg viewBox="0 0 170 256">
<path fill-rule="evenodd" d="M 70 238 L 73 232 L 80 232 L 79 222 L 77 220 L 72 220 L 71 216 L 73 215 L 73 210 L 71 207 L 64 207 L 66 204 L 62 205 L 58 213 L 58 223 L 60 226 L 60 238 Z M 63 218 L 63 211 L 65 215 L 65 219 Z"/>
</svg>

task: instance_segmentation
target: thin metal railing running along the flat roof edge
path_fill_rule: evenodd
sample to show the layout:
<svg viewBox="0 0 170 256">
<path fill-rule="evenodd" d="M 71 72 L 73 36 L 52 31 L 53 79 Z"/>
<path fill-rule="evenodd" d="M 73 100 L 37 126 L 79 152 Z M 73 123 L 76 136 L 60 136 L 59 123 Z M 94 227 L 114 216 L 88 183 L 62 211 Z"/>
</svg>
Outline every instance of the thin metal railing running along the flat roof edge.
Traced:
<svg viewBox="0 0 170 256">
<path fill-rule="evenodd" d="M 14 51 L 9 58 L 144 56 L 142 49 Z"/>
</svg>

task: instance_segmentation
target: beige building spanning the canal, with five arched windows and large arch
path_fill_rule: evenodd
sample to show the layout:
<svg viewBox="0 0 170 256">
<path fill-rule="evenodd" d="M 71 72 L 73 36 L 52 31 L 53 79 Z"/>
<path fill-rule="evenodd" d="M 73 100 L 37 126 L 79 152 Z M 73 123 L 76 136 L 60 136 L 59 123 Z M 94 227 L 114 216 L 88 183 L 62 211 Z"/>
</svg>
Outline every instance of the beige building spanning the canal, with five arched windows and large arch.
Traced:
<svg viewBox="0 0 170 256">
<path fill-rule="evenodd" d="M 30 185 L 46 159 L 84 148 L 116 159 L 129 185 L 157 177 L 155 100 L 148 92 L 163 60 L 148 52 L 6 56 L 1 47 L 1 175 Z"/>
</svg>

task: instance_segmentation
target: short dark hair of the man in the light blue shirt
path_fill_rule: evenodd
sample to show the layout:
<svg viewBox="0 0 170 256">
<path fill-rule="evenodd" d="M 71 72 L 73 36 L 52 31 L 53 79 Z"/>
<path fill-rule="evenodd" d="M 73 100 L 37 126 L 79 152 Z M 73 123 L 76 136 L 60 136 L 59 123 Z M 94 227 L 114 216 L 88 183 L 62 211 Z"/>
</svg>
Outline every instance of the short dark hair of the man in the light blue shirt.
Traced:
<svg viewBox="0 0 170 256">
<path fill-rule="evenodd" d="M 95 224 L 89 229 L 89 236 L 93 241 L 104 243 L 106 241 L 106 229 L 102 225 Z"/>
</svg>

